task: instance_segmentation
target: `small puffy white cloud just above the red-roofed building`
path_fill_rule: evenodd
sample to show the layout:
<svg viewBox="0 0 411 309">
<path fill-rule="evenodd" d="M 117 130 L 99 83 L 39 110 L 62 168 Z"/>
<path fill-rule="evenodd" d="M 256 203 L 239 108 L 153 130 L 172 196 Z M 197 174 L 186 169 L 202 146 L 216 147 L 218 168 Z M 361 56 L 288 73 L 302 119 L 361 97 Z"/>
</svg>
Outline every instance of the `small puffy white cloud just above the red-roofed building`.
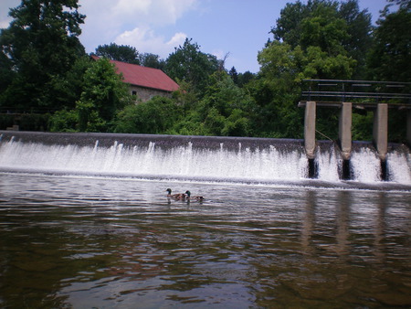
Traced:
<svg viewBox="0 0 411 309">
<path fill-rule="evenodd" d="M 132 31 L 121 33 L 114 42 L 119 45 L 130 45 L 140 52 L 153 53 L 165 59 L 175 47 L 183 45 L 185 37 L 187 36 L 184 33 L 179 32 L 167 41 L 164 37 L 157 36 L 149 27 L 136 27 Z"/>
</svg>

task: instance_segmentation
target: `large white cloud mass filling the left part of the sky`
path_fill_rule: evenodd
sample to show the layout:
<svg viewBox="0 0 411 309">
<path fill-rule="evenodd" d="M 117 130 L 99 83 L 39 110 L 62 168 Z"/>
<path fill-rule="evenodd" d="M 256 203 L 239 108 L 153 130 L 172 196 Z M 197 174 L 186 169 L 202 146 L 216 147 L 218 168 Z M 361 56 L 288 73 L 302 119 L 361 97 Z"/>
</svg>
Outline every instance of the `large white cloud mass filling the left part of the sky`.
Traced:
<svg viewBox="0 0 411 309">
<path fill-rule="evenodd" d="M 98 45 L 115 42 L 130 45 L 141 52 L 167 57 L 182 44 L 185 34 L 166 38 L 154 32 L 159 27 L 174 25 L 198 0 L 79 0 L 79 12 L 87 16 L 81 41 L 87 51 Z"/>
</svg>

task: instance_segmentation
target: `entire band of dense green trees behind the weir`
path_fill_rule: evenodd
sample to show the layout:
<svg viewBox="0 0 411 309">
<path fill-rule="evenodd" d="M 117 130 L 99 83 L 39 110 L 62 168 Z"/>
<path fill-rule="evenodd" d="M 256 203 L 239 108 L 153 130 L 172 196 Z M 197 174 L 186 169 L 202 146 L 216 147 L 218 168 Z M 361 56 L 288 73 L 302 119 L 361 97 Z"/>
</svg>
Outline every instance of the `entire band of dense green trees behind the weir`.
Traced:
<svg viewBox="0 0 411 309">
<path fill-rule="evenodd" d="M 357 0 L 290 2 L 253 74 L 227 71 L 193 39 L 167 59 L 111 43 L 93 61 L 79 43 L 78 0 L 23 0 L 0 33 L 0 129 L 301 138 L 302 80 L 411 80 L 410 3 L 387 0 L 373 27 Z M 108 59 L 163 69 L 180 90 L 135 104 Z M 318 131 L 332 139 L 337 113 L 318 110 Z M 370 140 L 372 122 L 372 112 L 355 113 L 353 139 Z M 402 141 L 405 113 L 390 111 L 390 123 L 390 139 Z"/>
</svg>

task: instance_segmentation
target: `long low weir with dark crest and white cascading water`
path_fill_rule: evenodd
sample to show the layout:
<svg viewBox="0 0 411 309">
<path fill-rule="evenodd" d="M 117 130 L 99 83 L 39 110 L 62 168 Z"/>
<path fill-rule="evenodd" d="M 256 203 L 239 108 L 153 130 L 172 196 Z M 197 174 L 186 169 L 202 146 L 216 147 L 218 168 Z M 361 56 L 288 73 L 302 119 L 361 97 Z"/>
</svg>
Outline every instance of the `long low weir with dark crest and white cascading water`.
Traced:
<svg viewBox="0 0 411 309">
<path fill-rule="evenodd" d="M 6 131 L 0 136 L 5 172 L 270 183 L 310 177 L 341 182 L 347 168 L 339 146 L 329 141 L 317 142 L 315 159 L 308 159 L 303 140 Z M 388 180 L 411 185 L 410 161 L 405 145 L 390 144 Z M 353 143 L 349 173 L 357 182 L 381 181 L 373 144 Z"/>
</svg>

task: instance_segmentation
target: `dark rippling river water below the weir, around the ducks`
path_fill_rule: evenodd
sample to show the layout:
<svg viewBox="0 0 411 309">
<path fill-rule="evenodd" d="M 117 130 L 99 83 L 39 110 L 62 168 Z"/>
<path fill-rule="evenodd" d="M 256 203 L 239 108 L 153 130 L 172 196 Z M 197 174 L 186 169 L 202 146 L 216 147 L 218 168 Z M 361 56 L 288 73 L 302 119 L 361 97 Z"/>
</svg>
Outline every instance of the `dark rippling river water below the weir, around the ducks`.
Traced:
<svg viewBox="0 0 411 309">
<path fill-rule="evenodd" d="M 0 235 L 5 308 L 411 306 L 409 190 L 3 172 Z"/>
</svg>

